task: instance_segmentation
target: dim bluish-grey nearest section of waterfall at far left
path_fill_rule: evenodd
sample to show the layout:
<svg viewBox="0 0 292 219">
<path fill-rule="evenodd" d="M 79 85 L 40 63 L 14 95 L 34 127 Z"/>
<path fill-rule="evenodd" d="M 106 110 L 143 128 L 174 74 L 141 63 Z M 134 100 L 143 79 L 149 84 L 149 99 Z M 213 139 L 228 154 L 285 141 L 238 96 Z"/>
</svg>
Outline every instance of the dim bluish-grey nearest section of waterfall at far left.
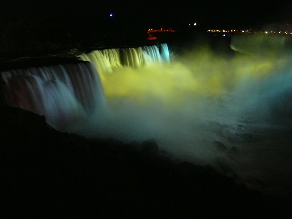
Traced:
<svg viewBox="0 0 292 219">
<path fill-rule="evenodd" d="M 8 105 L 46 115 L 55 127 L 106 106 L 100 78 L 90 62 L 9 70 L 2 72 L 2 78 Z"/>
</svg>

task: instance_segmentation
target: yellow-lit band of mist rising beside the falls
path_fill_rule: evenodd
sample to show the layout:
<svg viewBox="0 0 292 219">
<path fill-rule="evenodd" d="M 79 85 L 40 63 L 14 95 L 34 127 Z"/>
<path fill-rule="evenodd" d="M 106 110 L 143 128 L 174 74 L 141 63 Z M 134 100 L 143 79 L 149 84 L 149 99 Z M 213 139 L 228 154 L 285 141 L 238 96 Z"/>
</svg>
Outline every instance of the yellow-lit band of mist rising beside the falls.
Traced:
<svg viewBox="0 0 292 219">
<path fill-rule="evenodd" d="M 283 62 L 242 54 L 225 58 L 207 48 L 171 58 L 170 64 L 114 69 L 102 80 L 107 99 L 175 105 L 201 97 L 224 98 L 242 83 L 271 76 Z"/>
</svg>

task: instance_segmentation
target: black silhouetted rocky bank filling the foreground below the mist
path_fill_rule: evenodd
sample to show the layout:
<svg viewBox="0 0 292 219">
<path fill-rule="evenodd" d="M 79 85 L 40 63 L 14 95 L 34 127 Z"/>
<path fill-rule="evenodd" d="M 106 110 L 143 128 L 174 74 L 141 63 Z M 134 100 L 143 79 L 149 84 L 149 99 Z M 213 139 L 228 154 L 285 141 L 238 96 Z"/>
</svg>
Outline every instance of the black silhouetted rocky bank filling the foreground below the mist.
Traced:
<svg viewBox="0 0 292 219">
<path fill-rule="evenodd" d="M 154 141 L 60 133 L 1 109 L 1 218 L 290 218 L 290 197 L 248 190 L 211 166 L 173 162 Z"/>
</svg>

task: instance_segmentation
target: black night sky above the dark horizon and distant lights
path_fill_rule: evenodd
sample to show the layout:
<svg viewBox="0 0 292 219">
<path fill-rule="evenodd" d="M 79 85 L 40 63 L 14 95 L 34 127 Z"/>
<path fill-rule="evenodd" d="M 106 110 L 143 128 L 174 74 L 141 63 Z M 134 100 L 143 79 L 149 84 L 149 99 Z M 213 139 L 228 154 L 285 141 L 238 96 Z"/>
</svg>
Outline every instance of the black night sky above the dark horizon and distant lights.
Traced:
<svg viewBox="0 0 292 219">
<path fill-rule="evenodd" d="M 275 3 L 277 2 L 277 3 Z M 1 20 L 45 20 L 68 26 L 95 25 L 109 13 L 122 25 L 200 22 L 210 25 L 248 26 L 291 22 L 292 4 L 284 1 L 35 1 L 1 0 Z M 75 23 L 75 25 L 73 25 Z"/>
</svg>

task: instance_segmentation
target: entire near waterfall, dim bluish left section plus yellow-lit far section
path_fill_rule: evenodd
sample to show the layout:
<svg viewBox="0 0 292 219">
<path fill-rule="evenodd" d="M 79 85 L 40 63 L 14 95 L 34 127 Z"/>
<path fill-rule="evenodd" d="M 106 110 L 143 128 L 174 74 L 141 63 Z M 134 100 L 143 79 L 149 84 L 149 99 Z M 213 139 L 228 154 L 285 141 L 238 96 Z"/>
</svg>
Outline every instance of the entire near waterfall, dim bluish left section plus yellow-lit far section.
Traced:
<svg viewBox="0 0 292 219">
<path fill-rule="evenodd" d="M 169 54 L 166 48 L 163 56 Z M 90 62 L 2 72 L 6 102 L 46 115 L 49 124 L 60 127 L 74 116 L 86 117 L 106 106 L 100 78 L 104 80 L 115 68 L 138 68 L 162 60 L 157 46 L 97 50 L 78 57 Z"/>
</svg>

